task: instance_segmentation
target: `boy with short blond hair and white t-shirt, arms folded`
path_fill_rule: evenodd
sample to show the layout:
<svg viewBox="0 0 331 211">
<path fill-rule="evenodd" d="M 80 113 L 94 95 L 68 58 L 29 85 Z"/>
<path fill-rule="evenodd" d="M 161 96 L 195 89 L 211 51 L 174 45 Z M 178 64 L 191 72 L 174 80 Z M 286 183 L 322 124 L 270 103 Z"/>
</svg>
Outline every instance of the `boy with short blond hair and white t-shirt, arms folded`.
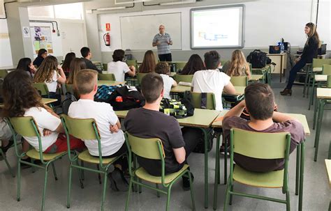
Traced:
<svg viewBox="0 0 331 211">
<path fill-rule="evenodd" d="M 101 136 L 101 153 L 103 157 L 117 157 L 126 152 L 126 143 L 123 131 L 121 130 L 121 123 L 117 118 L 112 106 L 105 102 L 95 102 L 94 95 L 98 89 L 98 72 L 94 70 L 80 70 L 75 77 L 75 89 L 80 95 L 80 100 L 72 102 L 68 116 L 72 118 L 94 118 L 98 131 Z M 99 156 L 98 141 L 85 141 L 85 145 L 92 156 Z M 122 171 L 127 169 L 127 160 L 122 158 L 118 160 Z M 115 174 L 119 175 L 120 169 L 115 167 Z M 122 174 L 122 173 L 121 173 Z M 117 185 L 119 181 L 117 181 Z M 112 186 L 113 189 L 117 189 Z"/>
</svg>

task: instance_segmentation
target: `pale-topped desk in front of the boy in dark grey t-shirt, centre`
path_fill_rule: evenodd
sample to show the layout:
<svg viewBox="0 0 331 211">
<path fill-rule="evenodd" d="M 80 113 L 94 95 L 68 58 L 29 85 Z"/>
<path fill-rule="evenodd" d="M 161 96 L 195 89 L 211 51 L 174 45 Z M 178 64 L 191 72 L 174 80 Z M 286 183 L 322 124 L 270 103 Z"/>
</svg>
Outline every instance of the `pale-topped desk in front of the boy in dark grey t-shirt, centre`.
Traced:
<svg viewBox="0 0 331 211">
<path fill-rule="evenodd" d="M 125 118 L 128 111 L 115 111 L 119 118 Z M 194 115 L 177 119 L 180 126 L 196 127 L 203 131 L 205 139 L 205 208 L 208 208 L 208 151 L 207 151 L 207 128 L 211 127 L 219 111 L 208 109 L 194 109 Z"/>
</svg>

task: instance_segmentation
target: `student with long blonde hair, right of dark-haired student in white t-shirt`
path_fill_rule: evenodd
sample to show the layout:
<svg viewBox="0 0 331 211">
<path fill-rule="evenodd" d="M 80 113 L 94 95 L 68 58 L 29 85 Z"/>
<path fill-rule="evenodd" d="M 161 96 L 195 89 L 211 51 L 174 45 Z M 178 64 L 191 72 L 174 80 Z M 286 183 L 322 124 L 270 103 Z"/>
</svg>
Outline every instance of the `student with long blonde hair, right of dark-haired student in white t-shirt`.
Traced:
<svg viewBox="0 0 331 211">
<path fill-rule="evenodd" d="M 249 63 L 247 63 L 244 53 L 237 49 L 232 53 L 231 61 L 226 62 L 223 65 L 222 72 L 226 72 L 226 75 L 233 76 L 247 76 L 251 77 L 251 71 L 249 70 Z"/>
</svg>

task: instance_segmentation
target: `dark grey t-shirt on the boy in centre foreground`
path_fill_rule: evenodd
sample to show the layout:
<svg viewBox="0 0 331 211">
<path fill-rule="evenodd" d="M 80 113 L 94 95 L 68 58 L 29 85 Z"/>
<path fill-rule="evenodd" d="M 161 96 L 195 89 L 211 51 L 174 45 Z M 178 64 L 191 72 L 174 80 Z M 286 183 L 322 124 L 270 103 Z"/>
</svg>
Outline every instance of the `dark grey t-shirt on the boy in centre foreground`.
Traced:
<svg viewBox="0 0 331 211">
<path fill-rule="evenodd" d="M 175 158 L 173 148 L 184 147 L 185 142 L 174 117 L 144 108 L 131 109 L 124 119 L 124 127 L 133 136 L 161 139 L 165 153 L 165 174 L 182 168 Z M 161 175 L 160 160 L 138 157 L 138 163 L 151 175 Z"/>
</svg>

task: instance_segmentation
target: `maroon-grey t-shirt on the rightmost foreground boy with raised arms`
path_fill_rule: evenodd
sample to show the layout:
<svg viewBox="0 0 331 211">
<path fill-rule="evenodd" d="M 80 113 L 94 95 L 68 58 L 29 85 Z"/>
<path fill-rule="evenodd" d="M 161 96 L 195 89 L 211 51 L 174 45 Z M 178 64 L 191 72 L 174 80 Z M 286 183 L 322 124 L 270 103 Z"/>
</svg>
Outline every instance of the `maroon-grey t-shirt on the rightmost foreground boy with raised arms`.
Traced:
<svg viewBox="0 0 331 211">
<path fill-rule="evenodd" d="M 290 153 L 295 147 L 304 141 L 304 128 L 297 120 L 288 120 L 284 123 L 274 123 L 265 130 L 254 130 L 249 126 L 249 121 L 237 116 L 230 116 L 223 119 L 224 137 L 230 143 L 230 129 L 232 127 L 253 132 L 289 132 Z M 234 160 L 237 165 L 249 171 L 267 172 L 284 169 L 284 159 L 257 159 L 235 153 Z"/>
</svg>

